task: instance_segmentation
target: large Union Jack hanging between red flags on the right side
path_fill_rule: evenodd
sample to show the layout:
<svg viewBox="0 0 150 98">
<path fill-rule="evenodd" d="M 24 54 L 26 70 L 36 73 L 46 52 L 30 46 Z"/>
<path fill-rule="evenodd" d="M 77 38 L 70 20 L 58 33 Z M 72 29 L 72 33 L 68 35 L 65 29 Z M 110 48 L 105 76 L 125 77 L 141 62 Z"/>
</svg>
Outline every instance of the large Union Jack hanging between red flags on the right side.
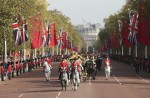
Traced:
<svg viewBox="0 0 150 98">
<path fill-rule="evenodd" d="M 138 33 L 138 17 L 139 14 L 136 11 L 130 11 L 129 12 L 129 35 L 128 35 L 128 41 L 132 44 L 137 44 L 137 33 Z"/>
</svg>

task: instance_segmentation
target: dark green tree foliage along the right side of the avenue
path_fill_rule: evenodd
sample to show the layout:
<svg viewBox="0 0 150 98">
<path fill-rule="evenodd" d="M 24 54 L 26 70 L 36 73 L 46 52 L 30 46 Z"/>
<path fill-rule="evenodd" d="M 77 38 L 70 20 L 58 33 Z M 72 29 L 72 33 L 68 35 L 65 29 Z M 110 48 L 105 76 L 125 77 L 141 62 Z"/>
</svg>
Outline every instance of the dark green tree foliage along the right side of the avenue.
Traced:
<svg viewBox="0 0 150 98">
<path fill-rule="evenodd" d="M 108 35 L 112 35 L 112 33 L 114 33 L 114 30 L 115 35 L 117 35 L 117 38 L 119 38 L 118 20 L 125 18 L 127 21 L 129 21 L 130 10 L 136 10 L 142 15 L 143 18 L 150 20 L 150 0 L 126 0 L 126 4 L 122 7 L 122 9 L 120 9 L 120 11 L 113 15 L 110 15 L 104 20 L 105 27 L 99 32 L 99 40 L 97 42 L 98 47 L 100 47 L 102 43 L 104 43 L 104 41 L 107 40 Z M 139 54 L 143 55 L 142 49 L 144 48 L 144 46 L 138 45 L 138 47 L 140 47 L 141 49 L 139 50 Z M 128 50 L 126 47 L 125 49 Z M 132 47 L 132 49 L 134 49 L 134 46 Z"/>
</svg>

